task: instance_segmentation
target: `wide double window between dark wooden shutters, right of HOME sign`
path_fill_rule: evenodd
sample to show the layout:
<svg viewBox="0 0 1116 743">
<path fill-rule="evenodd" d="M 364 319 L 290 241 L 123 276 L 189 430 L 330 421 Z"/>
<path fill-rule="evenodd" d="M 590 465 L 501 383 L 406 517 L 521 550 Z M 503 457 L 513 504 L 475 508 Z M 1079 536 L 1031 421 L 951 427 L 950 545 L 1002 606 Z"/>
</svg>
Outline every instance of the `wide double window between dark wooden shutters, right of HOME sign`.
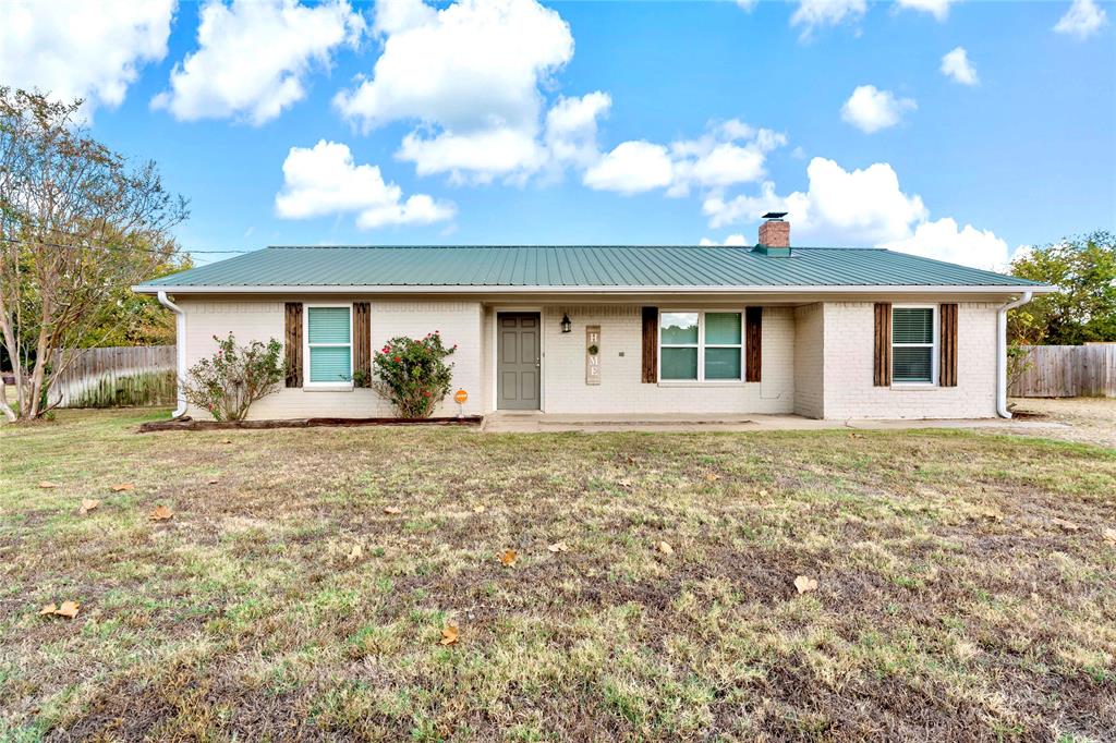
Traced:
<svg viewBox="0 0 1116 743">
<path fill-rule="evenodd" d="M 664 382 L 743 378 L 740 312 L 662 312 L 660 370 Z"/>
</svg>

